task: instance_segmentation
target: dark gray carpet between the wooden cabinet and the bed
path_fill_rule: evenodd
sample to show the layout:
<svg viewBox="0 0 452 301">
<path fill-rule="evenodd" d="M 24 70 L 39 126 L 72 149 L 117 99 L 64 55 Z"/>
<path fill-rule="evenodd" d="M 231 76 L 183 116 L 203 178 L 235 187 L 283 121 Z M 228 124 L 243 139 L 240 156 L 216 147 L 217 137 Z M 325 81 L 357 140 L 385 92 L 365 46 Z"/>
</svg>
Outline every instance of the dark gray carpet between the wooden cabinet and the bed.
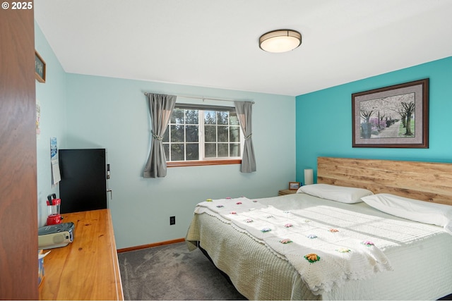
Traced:
<svg viewBox="0 0 452 301">
<path fill-rule="evenodd" d="M 125 300 L 246 300 L 186 242 L 118 254 Z"/>
</svg>

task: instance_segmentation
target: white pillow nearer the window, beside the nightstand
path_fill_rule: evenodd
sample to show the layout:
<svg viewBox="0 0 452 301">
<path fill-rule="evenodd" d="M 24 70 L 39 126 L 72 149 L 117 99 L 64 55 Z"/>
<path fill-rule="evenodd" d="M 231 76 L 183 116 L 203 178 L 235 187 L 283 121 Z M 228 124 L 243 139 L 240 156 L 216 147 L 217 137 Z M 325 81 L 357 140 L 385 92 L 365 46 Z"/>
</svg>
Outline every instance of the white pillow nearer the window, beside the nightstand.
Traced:
<svg viewBox="0 0 452 301">
<path fill-rule="evenodd" d="M 297 193 L 299 192 L 347 204 L 362 202 L 362 197 L 374 194 L 374 192 L 363 188 L 352 188 L 329 184 L 305 185 L 297 190 Z"/>
</svg>

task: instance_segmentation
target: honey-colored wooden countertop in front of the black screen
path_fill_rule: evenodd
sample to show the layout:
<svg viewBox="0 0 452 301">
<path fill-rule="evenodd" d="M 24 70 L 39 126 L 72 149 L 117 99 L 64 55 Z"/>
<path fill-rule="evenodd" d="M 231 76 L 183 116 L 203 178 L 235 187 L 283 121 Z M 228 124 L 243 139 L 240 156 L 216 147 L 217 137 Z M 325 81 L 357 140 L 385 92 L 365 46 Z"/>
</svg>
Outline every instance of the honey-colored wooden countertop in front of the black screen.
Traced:
<svg viewBox="0 0 452 301">
<path fill-rule="evenodd" d="M 124 300 L 109 209 L 62 216 L 73 242 L 44 257 L 40 300 Z"/>
</svg>

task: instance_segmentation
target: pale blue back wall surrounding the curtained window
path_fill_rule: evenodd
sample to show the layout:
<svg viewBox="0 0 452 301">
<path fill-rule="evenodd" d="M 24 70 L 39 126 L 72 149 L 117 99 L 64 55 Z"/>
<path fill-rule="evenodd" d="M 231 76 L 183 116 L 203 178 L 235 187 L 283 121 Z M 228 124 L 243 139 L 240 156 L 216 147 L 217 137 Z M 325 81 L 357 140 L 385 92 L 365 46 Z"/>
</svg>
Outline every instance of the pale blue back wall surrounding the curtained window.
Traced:
<svg viewBox="0 0 452 301">
<path fill-rule="evenodd" d="M 275 196 L 295 178 L 295 97 L 77 74 L 66 78 L 67 147 L 107 149 L 118 248 L 183 238 L 198 202 Z M 142 178 L 150 146 L 145 91 L 256 102 L 256 173 L 240 173 L 236 164 L 174 167 L 165 178 Z M 174 226 L 169 216 L 176 216 Z"/>
</svg>

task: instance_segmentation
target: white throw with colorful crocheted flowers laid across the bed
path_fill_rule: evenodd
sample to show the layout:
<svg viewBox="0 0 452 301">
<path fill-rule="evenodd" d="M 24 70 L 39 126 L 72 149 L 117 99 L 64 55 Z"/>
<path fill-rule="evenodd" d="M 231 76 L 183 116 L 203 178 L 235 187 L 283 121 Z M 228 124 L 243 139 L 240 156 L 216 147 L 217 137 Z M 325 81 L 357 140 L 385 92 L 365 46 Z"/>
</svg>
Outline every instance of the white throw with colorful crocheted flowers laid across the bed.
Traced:
<svg viewBox="0 0 452 301">
<path fill-rule="evenodd" d="M 326 224 L 319 221 L 325 210 L 321 207 L 282 211 L 246 197 L 209 200 L 198 204 L 200 207 L 232 222 L 238 231 L 290 262 L 314 295 L 329 292 L 350 279 L 361 280 L 391 270 L 386 255 L 368 235 L 347 229 L 350 219 L 356 219 L 350 211 L 337 211 Z"/>
</svg>

